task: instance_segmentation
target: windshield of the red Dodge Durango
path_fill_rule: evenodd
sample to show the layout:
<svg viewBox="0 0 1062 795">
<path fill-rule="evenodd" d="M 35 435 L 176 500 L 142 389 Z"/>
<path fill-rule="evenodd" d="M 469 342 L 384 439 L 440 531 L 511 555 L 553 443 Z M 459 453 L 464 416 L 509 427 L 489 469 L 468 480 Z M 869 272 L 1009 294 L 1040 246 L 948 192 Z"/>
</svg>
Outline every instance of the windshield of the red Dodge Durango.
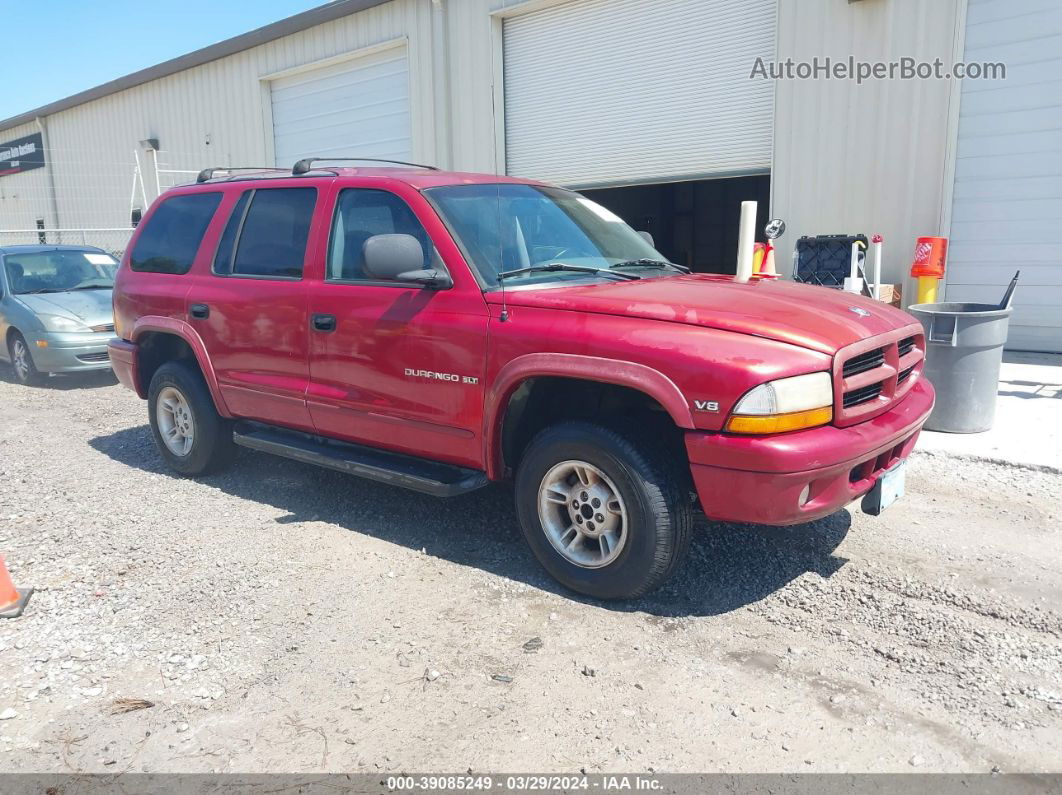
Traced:
<svg viewBox="0 0 1062 795">
<path fill-rule="evenodd" d="M 491 287 L 497 287 L 500 273 L 547 263 L 609 269 L 667 261 L 618 215 L 572 191 L 534 185 L 450 185 L 425 193 Z M 653 275 L 665 273 L 657 270 Z M 598 281 L 607 276 L 530 270 L 512 274 L 506 283 Z"/>
</svg>

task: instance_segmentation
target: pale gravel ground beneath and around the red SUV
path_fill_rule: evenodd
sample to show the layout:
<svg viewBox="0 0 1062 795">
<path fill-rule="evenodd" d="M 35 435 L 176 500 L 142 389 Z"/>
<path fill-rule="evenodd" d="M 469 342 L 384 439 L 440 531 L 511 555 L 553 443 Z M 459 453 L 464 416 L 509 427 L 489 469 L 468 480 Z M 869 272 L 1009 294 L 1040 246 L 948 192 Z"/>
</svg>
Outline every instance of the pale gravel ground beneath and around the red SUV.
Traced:
<svg viewBox="0 0 1062 795">
<path fill-rule="evenodd" d="M 174 478 L 109 375 L 3 373 L 0 479 L 37 588 L 5 772 L 1062 772 L 1062 474 L 917 454 L 884 516 L 705 524 L 620 605 L 547 578 L 500 486 Z"/>
</svg>

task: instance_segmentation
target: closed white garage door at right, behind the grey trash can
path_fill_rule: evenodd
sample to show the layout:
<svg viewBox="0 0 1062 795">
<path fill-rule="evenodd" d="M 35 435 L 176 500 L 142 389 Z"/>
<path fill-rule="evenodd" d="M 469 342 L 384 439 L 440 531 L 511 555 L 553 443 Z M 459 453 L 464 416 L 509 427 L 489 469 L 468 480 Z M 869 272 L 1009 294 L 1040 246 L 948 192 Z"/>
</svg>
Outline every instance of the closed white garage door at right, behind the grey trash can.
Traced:
<svg viewBox="0 0 1062 795">
<path fill-rule="evenodd" d="M 945 295 L 998 301 L 1021 270 L 1008 347 L 1062 351 L 1062 5 L 971 0 L 964 59 L 1007 79 L 962 83 Z"/>
</svg>

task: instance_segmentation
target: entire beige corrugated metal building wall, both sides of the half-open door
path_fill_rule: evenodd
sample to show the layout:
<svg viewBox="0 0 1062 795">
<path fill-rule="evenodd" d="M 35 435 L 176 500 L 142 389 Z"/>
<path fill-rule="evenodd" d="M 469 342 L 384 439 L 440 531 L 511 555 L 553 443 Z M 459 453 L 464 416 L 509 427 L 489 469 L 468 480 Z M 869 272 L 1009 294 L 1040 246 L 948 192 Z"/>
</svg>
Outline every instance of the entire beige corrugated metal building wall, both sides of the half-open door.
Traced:
<svg viewBox="0 0 1062 795">
<path fill-rule="evenodd" d="M 270 165 L 264 77 L 399 37 L 410 58 L 413 159 L 502 171 L 498 12 L 566 1 L 581 0 L 393 0 L 57 113 L 47 124 L 59 220 L 64 226 L 127 224 L 141 139 L 157 137 L 160 163 L 176 170 Z M 949 63 L 965 7 L 965 0 L 778 3 L 777 57 L 798 61 L 854 52 L 862 59 L 940 56 Z M 772 212 L 788 223 L 782 248 L 791 250 L 800 235 L 881 232 L 887 273 L 898 280 L 914 237 L 939 234 L 945 220 L 957 97 L 950 84 L 935 81 L 778 83 Z M 684 98 L 673 101 L 681 113 Z M 0 140 L 27 132 L 36 132 L 34 125 L 4 131 Z M 0 228 L 50 219 L 46 179 L 44 169 L 0 179 Z"/>
</svg>

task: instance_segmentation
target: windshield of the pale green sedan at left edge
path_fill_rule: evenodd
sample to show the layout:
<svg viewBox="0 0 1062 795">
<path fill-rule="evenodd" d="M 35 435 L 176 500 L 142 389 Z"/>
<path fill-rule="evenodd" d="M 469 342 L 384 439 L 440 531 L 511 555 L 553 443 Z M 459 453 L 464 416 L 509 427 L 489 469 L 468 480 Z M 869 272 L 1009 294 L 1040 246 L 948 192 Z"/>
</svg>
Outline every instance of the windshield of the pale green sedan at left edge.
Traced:
<svg viewBox="0 0 1062 795">
<path fill-rule="evenodd" d="M 108 290 L 115 286 L 118 261 L 103 252 L 59 249 L 7 254 L 7 284 L 16 295 Z"/>
</svg>

